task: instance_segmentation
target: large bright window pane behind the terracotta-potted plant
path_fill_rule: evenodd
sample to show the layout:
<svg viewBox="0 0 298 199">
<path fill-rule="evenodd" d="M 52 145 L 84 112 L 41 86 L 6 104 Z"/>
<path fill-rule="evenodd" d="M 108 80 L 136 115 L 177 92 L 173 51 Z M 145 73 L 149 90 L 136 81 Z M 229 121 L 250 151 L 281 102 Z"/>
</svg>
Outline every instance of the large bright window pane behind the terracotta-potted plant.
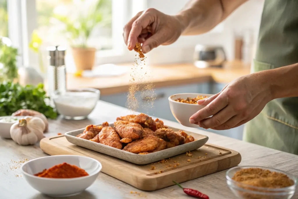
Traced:
<svg viewBox="0 0 298 199">
<path fill-rule="evenodd" d="M 111 12 L 111 0 L 36 0 L 36 34 L 45 45 L 112 49 Z"/>
</svg>

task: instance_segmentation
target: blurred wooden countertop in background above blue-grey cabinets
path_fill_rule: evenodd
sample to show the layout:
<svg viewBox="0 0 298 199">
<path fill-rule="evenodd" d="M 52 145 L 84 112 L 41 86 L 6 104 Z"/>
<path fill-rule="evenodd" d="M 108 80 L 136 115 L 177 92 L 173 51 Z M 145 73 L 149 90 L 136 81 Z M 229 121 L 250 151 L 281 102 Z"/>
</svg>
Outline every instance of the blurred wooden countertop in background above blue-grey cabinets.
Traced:
<svg viewBox="0 0 298 199">
<path fill-rule="evenodd" d="M 130 69 L 131 65 L 126 64 L 123 67 Z M 209 81 L 229 83 L 236 78 L 249 74 L 249 72 L 249 66 L 240 61 L 227 62 L 223 68 L 206 69 L 196 68 L 193 64 L 159 65 L 150 66 L 151 75 L 145 77 L 143 81 L 152 82 L 155 88 Z M 110 95 L 127 92 L 130 78 L 129 71 L 117 77 L 83 78 L 68 74 L 67 87 L 68 89 L 91 87 L 100 89 L 101 95 Z"/>
</svg>

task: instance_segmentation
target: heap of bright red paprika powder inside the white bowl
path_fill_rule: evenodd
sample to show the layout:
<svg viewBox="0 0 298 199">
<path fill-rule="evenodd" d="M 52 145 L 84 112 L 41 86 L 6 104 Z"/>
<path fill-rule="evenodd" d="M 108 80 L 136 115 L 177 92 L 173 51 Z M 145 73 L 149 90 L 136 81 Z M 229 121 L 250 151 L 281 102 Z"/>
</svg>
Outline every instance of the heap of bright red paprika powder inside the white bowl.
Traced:
<svg viewBox="0 0 298 199">
<path fill-rule="evenodd" d="M 84 169 L 64 162 L 34 175 L 44 178 L 78 178 L 89 174 Z"/>
</svg>

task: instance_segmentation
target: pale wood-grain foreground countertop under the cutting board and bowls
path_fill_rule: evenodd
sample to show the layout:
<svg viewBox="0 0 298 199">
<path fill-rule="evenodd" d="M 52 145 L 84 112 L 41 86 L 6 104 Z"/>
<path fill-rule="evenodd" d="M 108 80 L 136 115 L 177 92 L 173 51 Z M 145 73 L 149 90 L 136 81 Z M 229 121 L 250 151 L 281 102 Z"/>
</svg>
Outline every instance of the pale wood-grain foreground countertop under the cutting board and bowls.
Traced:
<svg viewBox="0 0 298 199">
<path fill-rule="evenodd" d="M 89 119 L 81 121 L 69 121 L 58 118 L 57 120 L 49 121 L 49 132 L 45 133 L 46 137 L 56 136 L 57 133 L 64 133 L 67 131 L 86 127 L 89 124 L 101 124 L 104 121 L 115 121 L 120 115 L 128 114 L 128 110 L 99 101 L 97 107 L 89 115 Z M 162 118 L 161 118 L 162 119 Z M 163 119 L 162 119 L 163 120 Z M 209 137 L 208 144 L 216 144 L 235 151 L 240 152 L 242 161 L 240 166 L 255 165 L 255 166 L 269 166 L 275 169 L 281 169 L 285 172 L 298 175 L 298 156 L 286 152 L 281 152 L 256 144 L 247 143 L 244 141 L 228 138 L 215 133 L 202 131 L 196 128 L 183 127 L 177 122 L 163 120 L 164 124 L 183 129 L 186 131 L 196 132 Z M 48 199 L 51 197 L 42 195 L 33 189 L 24 176 L 21 174 L 19 164 L 14 161 L 20 161 L 20 158 L 27 158 L 32 160 L 34 158 L 47 156 L 39 148 L 39 145 L 20 146 L 11 139 L 0 138 L 0 190 L 2 199 L 7 198 L 28 198 L 28 199 Z M 96 152 L 95 152 L 96 153 Z M 220 166 L 220 165 L 219 165 Z M 119 166 L 121 169 L 121 166 Z M 207 194 L 211 199 L 236 199 L 226 184 L 226 170 L 216 172 L 210 175 L 196 178 L 191 181 L 182 183 L 182 186 L 187 188 L 197 189 Z M 131 193 L 132 192 L 132 193 Z M 138 194 L 134 194 L 137 192 Z M 140 196 L 141 195 L 141 196 Z M 191 199 L 183 193 L 183 190 L 178 186 L 170 186 L 152 192 L 140 191 L 122 181 L 117 180 L 109 175 L 100 173 L 93 185 L 82 192 L 80 195 L 67 197 L 67 199 L 96 199 L 96 198 L 185 198 Z M 293 196 L 298 198 L 298 193 Z"/>
</svg>

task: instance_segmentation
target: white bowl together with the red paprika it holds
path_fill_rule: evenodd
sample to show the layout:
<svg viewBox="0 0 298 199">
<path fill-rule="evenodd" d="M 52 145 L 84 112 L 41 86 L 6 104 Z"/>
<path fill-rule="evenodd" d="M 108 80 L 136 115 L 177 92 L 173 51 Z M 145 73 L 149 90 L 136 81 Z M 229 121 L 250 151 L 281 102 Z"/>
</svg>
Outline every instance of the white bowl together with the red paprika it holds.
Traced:
<svg viewBox="0 0 298 199">
<path fill-rule="evenodd" d="M 94 183 L 101 169 L 99 161 L 79 155 L 46 156 L 28 161 L 21 167 L 30 186 L 52 197 L 83 192 Z"/>
</svg>

